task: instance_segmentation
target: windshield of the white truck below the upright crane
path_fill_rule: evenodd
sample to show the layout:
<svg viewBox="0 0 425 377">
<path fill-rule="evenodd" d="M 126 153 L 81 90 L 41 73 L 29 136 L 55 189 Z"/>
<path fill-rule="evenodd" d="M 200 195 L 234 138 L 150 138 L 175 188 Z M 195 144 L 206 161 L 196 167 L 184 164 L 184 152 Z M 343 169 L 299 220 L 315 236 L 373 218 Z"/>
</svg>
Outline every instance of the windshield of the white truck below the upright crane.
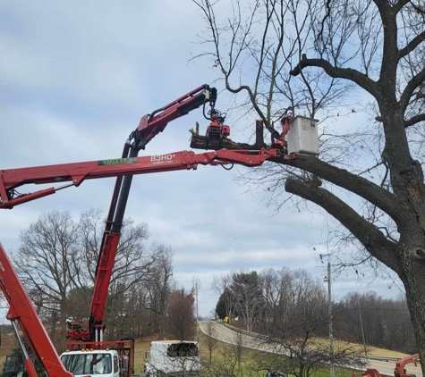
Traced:
<svg viewBox="0 0 425 377">
<path fill-rule="evenodd" d="M 64 363 L 66 370 L 75 375 L 112 373 L 112 359 L 109 354 L 69 354 L 63 355 L 61 360 Z"/>
</svg>

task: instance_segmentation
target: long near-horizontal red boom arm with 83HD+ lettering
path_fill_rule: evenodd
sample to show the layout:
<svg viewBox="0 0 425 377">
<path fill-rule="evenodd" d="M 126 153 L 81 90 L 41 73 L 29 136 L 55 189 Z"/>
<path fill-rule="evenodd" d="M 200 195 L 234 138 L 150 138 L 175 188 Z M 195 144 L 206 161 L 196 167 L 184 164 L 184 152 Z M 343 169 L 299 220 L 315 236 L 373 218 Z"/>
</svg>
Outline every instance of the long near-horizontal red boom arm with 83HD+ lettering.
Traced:
<svg viewBox="0 0 425 377">
<path fill-rule="evenodd" d="M 80 186 L 84 180 L 117 177 L 151 172 L 173 172 L 195 170 L 198 164 L 218 165 L 236 163 L 245 166 L 259 166 L 271 157 L 281 155 L 281 149 L 227 150 L 195 154 L 192 151 L 180 151 L 166 155 L 148 155 L 142 157 L 116 158 L 110 160 L 90 161 L 86 163 L 63 163 L 32 168 L 9 169 L 0 171 L 0 208 L 13 208 L 37 199 L 55 194 L 59 189 Z M 46 184 L 66 182 L 61 188 L 49 188 L 30 194 L 13 197 L 14 189 L 25 184 Z"/>
</svg>

